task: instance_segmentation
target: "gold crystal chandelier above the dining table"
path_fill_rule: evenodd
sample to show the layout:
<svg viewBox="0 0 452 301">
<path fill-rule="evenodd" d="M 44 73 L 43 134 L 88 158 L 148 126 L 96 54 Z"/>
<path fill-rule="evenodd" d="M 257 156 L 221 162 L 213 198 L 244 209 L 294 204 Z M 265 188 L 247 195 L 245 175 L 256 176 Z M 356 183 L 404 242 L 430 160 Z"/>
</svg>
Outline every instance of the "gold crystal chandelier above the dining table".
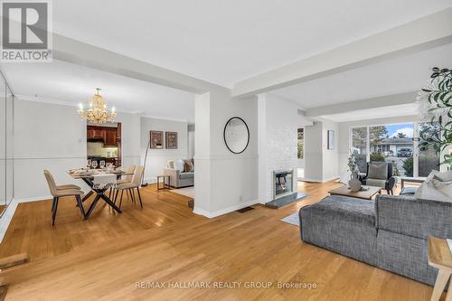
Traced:
<svg viewBox="0 0 452 301">
<path fill-rule="evenodd" d="M 86 118 L 89 122 L 94 124 L 102 124 L 115 121 L 115 107 L 111 108 L 111 111 L 108 111 L 107 101 L 102 99 L 102 97 L 100 96 L 100 89 L 96 89 L 96 94 L 94 94 L 94 96 L 88 100 L 89 108 L 85 111 L 83 104 L 80 103 L 77 113 L 79 113 L 80 118 Z"/>
</svg>

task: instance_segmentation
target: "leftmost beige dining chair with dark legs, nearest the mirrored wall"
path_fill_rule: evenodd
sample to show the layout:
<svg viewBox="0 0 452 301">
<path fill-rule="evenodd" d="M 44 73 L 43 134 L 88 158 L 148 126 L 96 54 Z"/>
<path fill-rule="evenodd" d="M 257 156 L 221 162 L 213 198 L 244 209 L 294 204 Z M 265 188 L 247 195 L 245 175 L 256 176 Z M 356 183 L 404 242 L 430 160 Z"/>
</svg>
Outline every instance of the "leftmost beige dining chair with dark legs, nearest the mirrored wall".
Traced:
<svg viewBox="0 0 452 301">
<path fill-rule="evenodd" d="M 81 202 L 81 195 L 83 192 L 77 185 L 57 185 L 53 179 L 52 174 L 48 170 L 44 170 L 45 180 L 49 185 L 49 190 L 53 197 L 52 203 L 52 226 L 55 224 L 56 212 L 58 210 L 58 201 L 64 196 L 74 196 L 75 201 L 80 209 L 81 216 L 85 218 L 85 210 L 83 209 L 83 202 Z M 63 188 L 64 187 L 64 188 Z"/>
</svg>

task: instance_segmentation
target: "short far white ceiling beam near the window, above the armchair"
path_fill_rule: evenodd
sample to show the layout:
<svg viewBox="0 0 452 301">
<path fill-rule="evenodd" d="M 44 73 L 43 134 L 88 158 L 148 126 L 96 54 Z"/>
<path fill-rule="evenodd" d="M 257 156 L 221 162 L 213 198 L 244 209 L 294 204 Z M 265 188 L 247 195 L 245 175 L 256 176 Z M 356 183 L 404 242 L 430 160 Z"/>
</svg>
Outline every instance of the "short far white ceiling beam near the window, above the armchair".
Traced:
<svg viewBox="0 0 452 301">
<path fill-rule="evenodd" d="M 403 105 L 415 102 L 417 96 L 418 92 L 414 91 L 400 94 L 392 94 L 372 99 L 354 100 L 324 107 L 309 108 L 306 110 L 305 116 L 310 118 L 316 118 L 320 116 L 346 113 L 360 109 Z"/>
</svg>

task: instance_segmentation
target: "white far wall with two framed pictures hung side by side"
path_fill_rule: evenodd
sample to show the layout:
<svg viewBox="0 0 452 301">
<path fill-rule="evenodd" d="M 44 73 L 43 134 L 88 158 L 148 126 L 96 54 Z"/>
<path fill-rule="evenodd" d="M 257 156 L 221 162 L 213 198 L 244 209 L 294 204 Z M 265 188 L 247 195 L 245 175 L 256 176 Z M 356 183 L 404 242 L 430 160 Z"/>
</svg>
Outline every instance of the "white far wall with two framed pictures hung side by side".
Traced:
<svg viewBox="0 0 452 301">
<path fill-rule="evenodd" d="M 177 149 L 148 149 L 145 179 L 148 183 L 155 183 L 157 174 L 163 174 L 164 168 L 168 160 L 188 159 L 188 124 L 187 122 L 157 119 L 157 118 L 141 118 L 141 162 L 144 162 L 146 147 L 149 143 L 149 131 L 177 132 L 178 147 Z M 164 143 L 165 147 L 165 143 Z"/>
</svg>

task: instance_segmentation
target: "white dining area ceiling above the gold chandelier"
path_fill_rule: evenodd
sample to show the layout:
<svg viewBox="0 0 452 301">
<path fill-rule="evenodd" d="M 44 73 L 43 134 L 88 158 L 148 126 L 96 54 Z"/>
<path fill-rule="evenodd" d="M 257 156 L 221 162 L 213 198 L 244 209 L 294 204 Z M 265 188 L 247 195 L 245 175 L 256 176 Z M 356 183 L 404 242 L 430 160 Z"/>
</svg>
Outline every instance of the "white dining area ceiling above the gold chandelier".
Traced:
<svg viewBox="0 0 452 301">
<path fill-rule="evenodd" d="M 194 94 L 68 62 L 10 63 L 2 66 L 18 97 L 87 104 L 101 88 L 108 107 L 142 116 L 194 122 Z"/>
</svg>

